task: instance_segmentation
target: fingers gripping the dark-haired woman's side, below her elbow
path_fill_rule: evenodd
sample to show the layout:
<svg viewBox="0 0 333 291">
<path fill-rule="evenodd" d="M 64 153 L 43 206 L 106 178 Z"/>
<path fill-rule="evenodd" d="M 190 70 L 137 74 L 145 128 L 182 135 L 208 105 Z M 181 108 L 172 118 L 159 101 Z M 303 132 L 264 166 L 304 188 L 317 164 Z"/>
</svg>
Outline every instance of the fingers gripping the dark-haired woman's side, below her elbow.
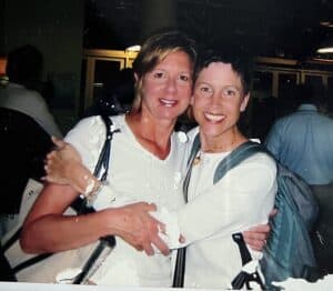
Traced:
<svg viewBox="0 0 333 291">
<path fill-rule="evenodd" d="M 270 213 L 270 217 L 274 217 L 278 213 L 276 209 L 273 209 Z M 260 224 L 254 228 L 251 228 L 248 231 L 243 232 L 244 240 L 246 244 L 254 251 L 262 251 L 264 245 L 268 242 L 270 235 L 271 227 L 269 223 Z"/>
</svg>

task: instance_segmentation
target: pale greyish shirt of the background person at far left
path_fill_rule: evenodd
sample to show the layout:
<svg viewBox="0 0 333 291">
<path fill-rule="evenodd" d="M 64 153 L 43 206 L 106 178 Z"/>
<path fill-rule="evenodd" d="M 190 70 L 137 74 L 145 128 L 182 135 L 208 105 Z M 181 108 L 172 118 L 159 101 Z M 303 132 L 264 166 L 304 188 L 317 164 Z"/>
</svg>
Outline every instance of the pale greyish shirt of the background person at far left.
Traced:
<svg viewBox="0 0 333 291">
<path fill-rule="evenodd" d="M 47 102 L 37 91 L 9 82 L 0 88 L 0 107 L 20 111 L 31 117 L 50 136 L 62 137 Z"/>
</svg>

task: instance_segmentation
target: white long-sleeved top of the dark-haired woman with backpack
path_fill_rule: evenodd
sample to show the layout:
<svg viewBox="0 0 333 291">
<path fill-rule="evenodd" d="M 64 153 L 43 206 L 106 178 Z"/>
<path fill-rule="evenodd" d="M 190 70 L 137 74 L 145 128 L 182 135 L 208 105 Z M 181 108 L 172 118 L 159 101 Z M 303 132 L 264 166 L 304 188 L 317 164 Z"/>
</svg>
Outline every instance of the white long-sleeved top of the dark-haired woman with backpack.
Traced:
<svg viewBox="0 0 333 291">
<path fill-rule="evenodd" d="M 229 152 L 200 153 L 189 184 L 189 202 L 178 211 L 186 239 L 188 288 L 226 289 L 241 271 L 242 262 L 232 233 L 265 223 L 276 193 L 276 165 L 256 153 L 213 184 L 220 161 Z M 251 251 L 253 259 L 261 253 Z"/>
</svg>

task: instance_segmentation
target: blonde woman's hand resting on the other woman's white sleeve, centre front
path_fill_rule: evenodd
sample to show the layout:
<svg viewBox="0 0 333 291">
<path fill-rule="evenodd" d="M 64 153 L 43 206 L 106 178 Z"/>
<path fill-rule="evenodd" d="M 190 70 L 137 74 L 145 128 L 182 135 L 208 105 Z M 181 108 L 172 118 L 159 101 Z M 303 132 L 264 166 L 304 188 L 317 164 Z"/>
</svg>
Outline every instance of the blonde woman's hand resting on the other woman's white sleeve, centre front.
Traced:
<svg viewBox="0 0 333 291">
<path fill-rule="evenodd" d="M 154 204 L 139 202 L 119 208 L 120 221 L 115 228 L 117 235 L 122 238 L 138 251 L 144 250 L 148 255 L 154 254 L 154 249 L 158 248 L 164 255 L 170 253 L 168 245 L 159 237 L 159 232 L 165 231 L 165 225 L 149 214 L 150 211 L 155 211 Z M 113 209 L 114 211 L 114 209 Z M 112 218 L 114 228 L 114 217 Z"/>
</svg>

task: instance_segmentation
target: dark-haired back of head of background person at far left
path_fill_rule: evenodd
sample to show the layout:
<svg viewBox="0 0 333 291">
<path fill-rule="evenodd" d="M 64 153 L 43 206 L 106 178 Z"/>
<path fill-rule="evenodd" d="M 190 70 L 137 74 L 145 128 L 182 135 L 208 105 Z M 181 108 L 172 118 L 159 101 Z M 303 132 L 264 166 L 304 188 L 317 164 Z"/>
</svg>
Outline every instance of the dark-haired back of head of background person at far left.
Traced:
<svg viewBox="0 0 333 291">
<path fill-rule="evenodd" d="M 28 86 L 39 80 L 43 68 L 43 56 L 33 46 L 26 44 L 8 53 L 6 73 L 9 81 Z"/>
</svg>

